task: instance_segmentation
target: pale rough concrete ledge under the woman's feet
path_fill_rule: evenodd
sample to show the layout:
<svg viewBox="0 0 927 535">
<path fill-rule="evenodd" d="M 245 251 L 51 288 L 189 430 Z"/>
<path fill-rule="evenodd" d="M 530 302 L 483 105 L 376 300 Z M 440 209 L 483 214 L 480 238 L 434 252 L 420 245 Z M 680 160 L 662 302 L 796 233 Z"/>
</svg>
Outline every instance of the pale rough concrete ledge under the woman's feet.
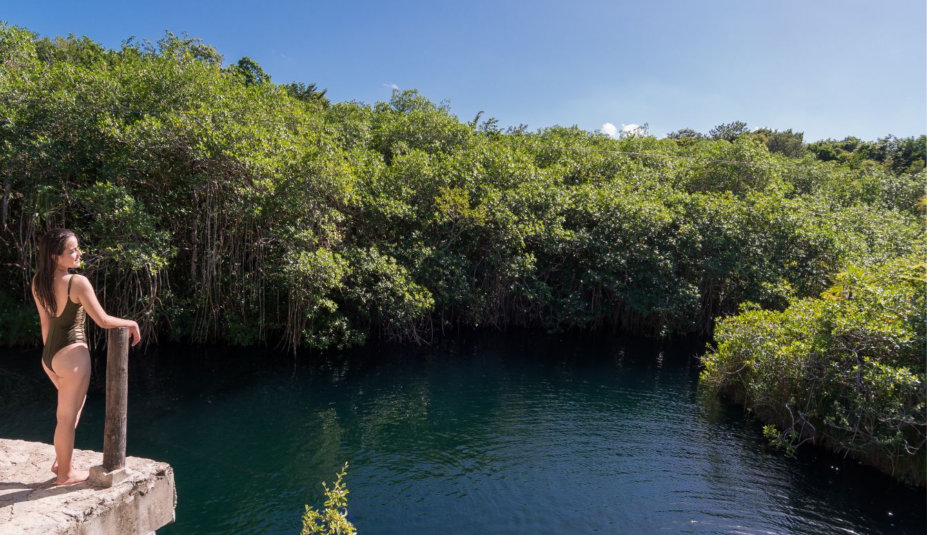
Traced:
<svg viewBox="0 0 927 535">
<path fill-rule="evenodd" d="M 147 535 L 173 522 L 177 492 L 166 463 L 126 457 L 128 478 L 105 488 L 58 487 L 51 444 L 0 439 L 0 534 Z M 74 450 L 74 465 L 102 465 L 103 453 Z"/>
</svg>

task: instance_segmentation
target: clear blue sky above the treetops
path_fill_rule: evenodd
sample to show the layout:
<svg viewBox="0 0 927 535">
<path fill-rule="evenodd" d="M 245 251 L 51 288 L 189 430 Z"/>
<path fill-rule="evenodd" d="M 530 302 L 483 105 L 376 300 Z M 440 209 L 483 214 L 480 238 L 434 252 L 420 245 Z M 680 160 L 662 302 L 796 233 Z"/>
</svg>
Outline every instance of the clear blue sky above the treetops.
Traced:
<svg viewBox="0 0 927 535">
<path fill-rule="evenodd" d="M 923 0 L 780 2 L 6 2 L 0 19 L 118 47 L 188 32 L 333 100 L 390 86 L 531 130 L 608 122 L 662 136 L 721 122 L 806 141 L 927 130 Z"/>
</svg>

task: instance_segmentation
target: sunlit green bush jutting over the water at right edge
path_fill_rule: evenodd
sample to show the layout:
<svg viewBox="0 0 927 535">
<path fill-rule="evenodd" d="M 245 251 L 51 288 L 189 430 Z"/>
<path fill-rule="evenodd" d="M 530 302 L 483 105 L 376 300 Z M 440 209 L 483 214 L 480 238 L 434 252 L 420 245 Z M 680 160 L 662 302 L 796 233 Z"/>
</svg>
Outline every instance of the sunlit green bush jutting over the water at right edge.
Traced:
<svg viewBox="0 0 927 535">
<path fill-rule="evenodd" d="M 819 298 L 782 312 L 746 306 L 718 323 L 703 379 L 778 427 L 899 478 L 927 479 L 923 251 L 848 267 Z"/>
</svg>

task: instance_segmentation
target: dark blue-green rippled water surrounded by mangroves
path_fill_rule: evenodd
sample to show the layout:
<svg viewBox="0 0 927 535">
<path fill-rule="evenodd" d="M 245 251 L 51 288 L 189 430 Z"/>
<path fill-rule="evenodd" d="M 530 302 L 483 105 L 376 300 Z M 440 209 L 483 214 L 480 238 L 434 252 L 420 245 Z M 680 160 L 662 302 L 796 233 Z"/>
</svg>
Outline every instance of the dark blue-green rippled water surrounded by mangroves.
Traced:
<svg viewBox="0 0 927 535">
<path fill-rule="evenodd" d="M 698 386 L 700 342 L 494 334 L 298 359 L 131 355 L 128 454 L 170 463 L 159 534 L 298 533 L 350 463 L 375 533 L 923 533 L 922 490 L 842 457 L 765 445 Z M 97 351 L 100 354 L 100 351 Z M 50 442 L 40 351 L 0 353 L 0 436 Z M 95 359 L 77 447 L 102 449 Z"/>
</svg>

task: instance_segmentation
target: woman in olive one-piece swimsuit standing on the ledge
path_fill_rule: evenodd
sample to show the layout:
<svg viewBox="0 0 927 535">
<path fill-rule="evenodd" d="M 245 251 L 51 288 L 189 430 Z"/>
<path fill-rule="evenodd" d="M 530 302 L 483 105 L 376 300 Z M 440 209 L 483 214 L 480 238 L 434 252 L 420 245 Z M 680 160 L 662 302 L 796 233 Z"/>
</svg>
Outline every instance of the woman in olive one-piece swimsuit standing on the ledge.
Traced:
<svg viewBox="0 0 927 535">
<path fill-rule="evenodd" d="M 58 485 L 85 481 L 90 473 L 71 465 L 74 429 L 81 418 L 90 384 L 90 350 L 83 329 L 84 311 L 105 329 L 129 327 L 134 346 L 141 340 L 138 324 L 103 311 L 87 277 L 69 274 L 81 267 L 77 236 L 65 228 L 48 231 L 39 242 L 39 270 L 32 277 L 32 298 L 42 321 L 42 367 L 58 391 L 55 464 Z"/>
</svg>

